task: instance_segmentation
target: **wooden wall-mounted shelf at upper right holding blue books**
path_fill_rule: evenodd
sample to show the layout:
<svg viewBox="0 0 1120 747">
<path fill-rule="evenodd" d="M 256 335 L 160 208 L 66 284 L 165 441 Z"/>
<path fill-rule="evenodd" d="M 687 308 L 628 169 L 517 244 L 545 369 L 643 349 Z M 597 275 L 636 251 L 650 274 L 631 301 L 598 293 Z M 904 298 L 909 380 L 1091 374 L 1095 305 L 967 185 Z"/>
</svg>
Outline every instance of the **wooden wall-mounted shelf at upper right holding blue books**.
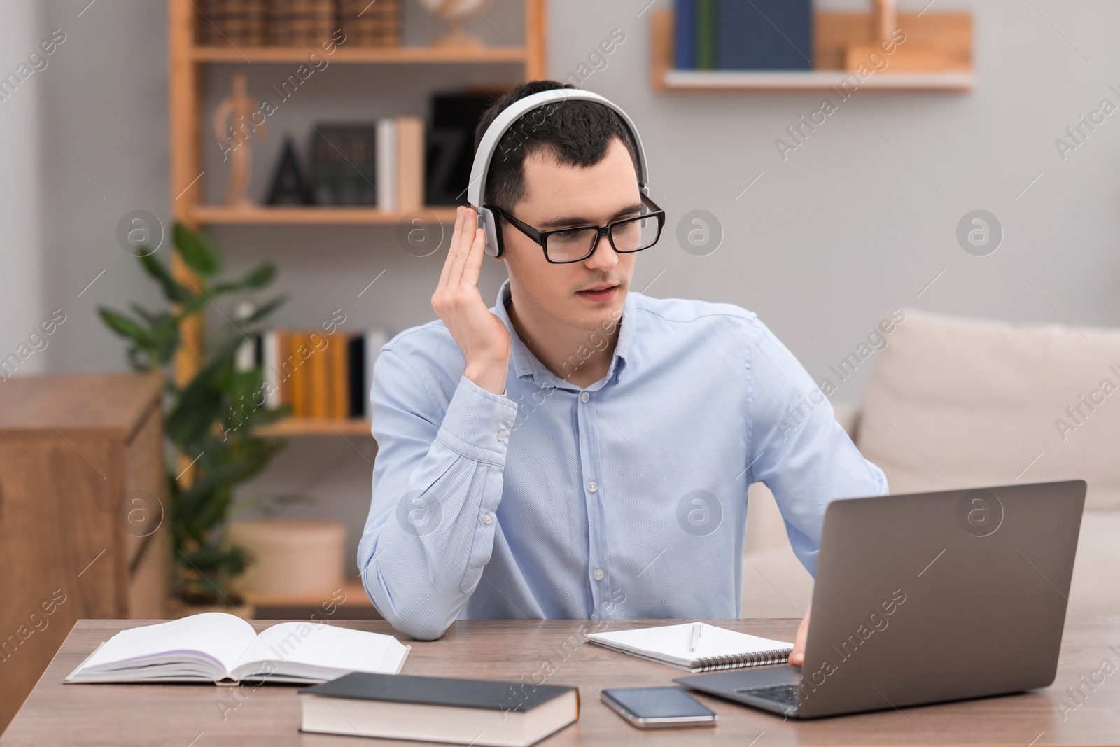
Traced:
<svg viewBox="0 0 1120 747">
<path fill-rule="evenodd" d="M 663 9 L 651 19 L 653 88 L 670 91 L 969 91 L 972 72 L 972 15 L 968 12 L 898 13 L 905 41 L 894 55 L 884 55 L 886 67 L 860 78 L 844 69 L 850 47 L 870 45 L 876 37 L 870 12 L 816 11 L 813 16 L 813 69 L 721 71 L 673 67 L 673 11 Z M 869 48 L 870 49 L 870 48 Z M 936 58 L 939 69 L 915 69 L 915 59 Z M 852 83 L 853 82 L 853 83 Z"/>
</svg>

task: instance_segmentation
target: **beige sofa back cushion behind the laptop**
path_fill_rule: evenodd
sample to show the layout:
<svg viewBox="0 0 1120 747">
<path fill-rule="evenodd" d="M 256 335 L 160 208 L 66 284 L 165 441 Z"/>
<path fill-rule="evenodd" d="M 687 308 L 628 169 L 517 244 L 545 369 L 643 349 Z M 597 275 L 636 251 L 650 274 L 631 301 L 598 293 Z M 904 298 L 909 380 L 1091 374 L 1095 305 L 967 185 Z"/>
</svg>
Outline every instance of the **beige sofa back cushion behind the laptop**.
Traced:
<svg viewBox="0 0 1120 747">
<path fill-rule="evenodd" d="M 876 357 L 857 446 L 893 494 L 1084 479 L 1120 510 L 1120 330 L 906 309 Z"/>
</svg>

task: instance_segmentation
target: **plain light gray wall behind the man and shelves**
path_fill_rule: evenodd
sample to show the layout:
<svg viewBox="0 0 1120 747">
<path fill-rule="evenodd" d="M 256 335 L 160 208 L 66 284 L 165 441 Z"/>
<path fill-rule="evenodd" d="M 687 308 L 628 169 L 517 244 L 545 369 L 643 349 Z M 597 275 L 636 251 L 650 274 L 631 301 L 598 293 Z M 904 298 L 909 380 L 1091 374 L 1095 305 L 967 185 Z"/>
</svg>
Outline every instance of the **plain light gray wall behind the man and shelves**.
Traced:
<svg viewBox="0 0 1120 747">
<path fill-rule="evenodd" d="M 926 1 L 902 4 L 920 10 Z M 67 305 L 69 320 L 41 354 L 53 371 L 124 367 L 120 342 L 94 311 L 99 305 L 153 301 L 156 295 L 116 245 L 115 225 L 137 208 L 166 221 L 174 197 L 167 172 L 164 4 L 99 0 L 78 17 L 86 3 L 43 3 L 40 18 L 20 26 L 25 38 L 6 29 L 0 57 L 0 68 L 7 69 L 26 54 L 28 40 L 55 27 L 68 35 L 50 67 L 29 81 L 43 97 L 34 116 L 58 150 L 40 148 L 39 136 L 28 127 L 29 110 L 13 113 L 11 102 L 0 104 L 4 162 L 17 169 L 6 167 L 0 204 L 24 217 L 9 224 L 22 233 L 6 232 L 0 348 L 16 345 L 40 314 L 28 309 Z M 1064 160 L 1054 142 L 1102 99 L 1120 104 L 1120 95 L 1108 88 L 1113 83 L 1120 88 L 1120 52 L 1112 38 L 1120 26 L 1117 3 L 940 0 L 930 12 L 967 8 L 974 13 L 976 90 L 860 91 L 785 160 L 775 140 L 816 109 L 821 94 L 655 94 L 648 80 L 648 18 L 665 0 L 644 11 L 643 0 L 550 4 L 552 77 L 576 73 L 612 29 L 626 35 L 606 68 L 584 86 L 618 102 L 638 123 L 654 197 L 670 215 L 673 231 L 640 258 L 636 288 L 656 278 L 648 289 L 654 296 L 730 301 L 756 310 L 814 379 L 852 352 L 896 306 L 1014 321 L 1120 323 L 1120 114 L 1107 118 Z M 410 34 L 422 38 L 430 24 L 412 0 L 405 6 Z M 478 21 L 476 30 L 489 39 L 516 40 L 520 15 L 507 12 L 515 7 L 498 0 L 488 11 L 494 22 Z M 251 91 L 288 73 L 283 65 L 251 67 Z M 212 68 L 208 106 L 230 72 Z M 422 113 L 428 86 L 452 88 L 493 81 L 503 72 L 334 65 L 317 73 L 298 94 L 306 97 L 293 97 L 269 122 L 271 138 L 254 151 L 254 194 L 262 196 L 284 132 L 302 144 L 312 121 Z M 41 220 L 34 198 L 24 196 L 36 175 L 18 165 L 36 148 Z M 207 179 L 221 171 L 216 153 L 208 146 Z M 12 178 L 19 168 L 24 176 Z M 216 197 L 221 181 L 211 180 L 207 188 Z M 13 208 L 12 199 L 30 200 L 26 213 Z M 958 222 L 978 208 L 993 213 L 1005 230 L 1001 246 L 988 256 L 965 253 L 955 239 Z M 706 256 L 684 252 L 674 239 L 680 216 L 692 209 L 715 214 L 722 226 L 721 245 Z M 213 235 L 234 270 L 262 259 L 280 265 L 280 286 L 293 298 L 278 323 L 310 326 L 339 306 L 353 327 L 381 323 L 400 330 L 433 317 L 429 298 L 442 253 L 405 254 L 391 226 L 226 226 Z M 360 298 L 382 270 L 385 274 Z M 38 273 L 41 299 L 34 290 Z M 492 297 L 502 279 L 502 267 L 488 262 L 484 293 Z M 215 332 L 222 324 L 211 320 Z M 864 365 L 833 400 L 858 401 L 869 367 Z M 291 458 L 252 492 L 295 487 L 318 504 L 297 511 L 333 512 L 358 531 L 368 502 L 372 443 L 352 440 L 295 442 Z"/>
</svg>

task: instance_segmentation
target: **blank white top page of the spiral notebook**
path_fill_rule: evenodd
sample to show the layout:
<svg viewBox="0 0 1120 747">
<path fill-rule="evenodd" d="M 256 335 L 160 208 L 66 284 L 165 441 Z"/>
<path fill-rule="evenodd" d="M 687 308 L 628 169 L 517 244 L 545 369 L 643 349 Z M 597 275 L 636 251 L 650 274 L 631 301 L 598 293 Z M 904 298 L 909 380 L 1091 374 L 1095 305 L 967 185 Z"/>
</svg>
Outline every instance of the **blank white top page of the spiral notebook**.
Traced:
<svg viewBox="0 0 1120 747">
<path fill-rule="evenodd" d="M 598 643 L 606 643 L 610 647 L 682 664 L 708 656 L 735 656 L 793 647 L 792 643 L 784 641 L 763 638 L 706 624 L 696 651 L 691 651 L 692 623 L 610 633 L 588 633 L 586 637 Z"/>
</svg>

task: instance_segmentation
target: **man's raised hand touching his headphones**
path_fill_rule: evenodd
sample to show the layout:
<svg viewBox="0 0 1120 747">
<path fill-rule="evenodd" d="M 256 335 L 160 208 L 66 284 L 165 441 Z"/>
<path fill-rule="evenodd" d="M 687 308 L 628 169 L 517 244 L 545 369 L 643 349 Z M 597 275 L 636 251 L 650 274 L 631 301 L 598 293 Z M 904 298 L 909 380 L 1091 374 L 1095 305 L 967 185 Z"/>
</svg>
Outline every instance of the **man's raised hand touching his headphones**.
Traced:
<svg viewBox="0 0 1120 747">
<path fill-rule="evenodd" d="M 502 394 L 512 342 L 505 325 L 478 292 L 485 248 L 486 234 L 478 227 L 478 214 L 469 207 L 456 208 L 451 245 L 431 307 L 463 351 L 467 364 L 464 375 L 486 391 Z"/>
</svg>

